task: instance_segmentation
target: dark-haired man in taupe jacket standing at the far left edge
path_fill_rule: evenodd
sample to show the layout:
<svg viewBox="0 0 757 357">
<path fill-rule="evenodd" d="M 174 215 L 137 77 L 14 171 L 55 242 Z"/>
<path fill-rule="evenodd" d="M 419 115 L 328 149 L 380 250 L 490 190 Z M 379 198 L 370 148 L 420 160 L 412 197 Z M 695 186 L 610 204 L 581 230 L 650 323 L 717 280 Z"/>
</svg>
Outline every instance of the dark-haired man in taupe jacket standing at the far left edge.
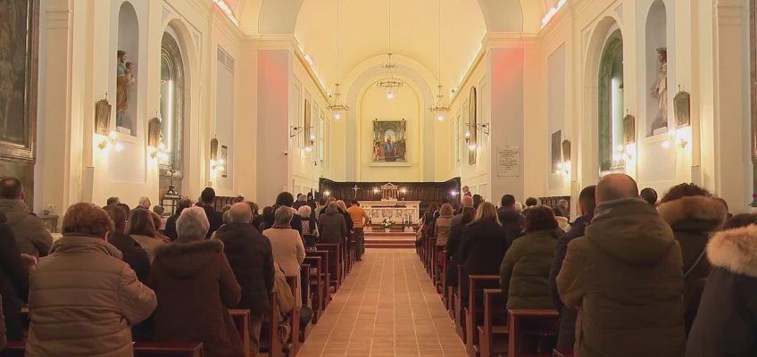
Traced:
<svg viewBox="0 0 757 357">
<path fill-rule="evenodd" d="M 0 179 L 0 213 L 5 215 L 6 223 L 13 231 L 19 252 L 36 257 L 46 256 L 53 245 L 53 236 L 45 228 L 45 223 L 29 212 L 25 199 L 26 192 L 20 179 Z"/>
</svg>

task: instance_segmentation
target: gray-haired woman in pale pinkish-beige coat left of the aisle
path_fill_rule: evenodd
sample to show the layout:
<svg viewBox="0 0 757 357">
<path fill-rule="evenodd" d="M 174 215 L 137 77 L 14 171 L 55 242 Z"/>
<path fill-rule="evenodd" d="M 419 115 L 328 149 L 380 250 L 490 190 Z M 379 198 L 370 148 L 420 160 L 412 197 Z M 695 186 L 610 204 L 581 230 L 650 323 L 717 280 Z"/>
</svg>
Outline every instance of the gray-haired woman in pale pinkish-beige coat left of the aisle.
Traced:
<svg viewBox="0 0 757 357">
<path fill-rule="evenodd" d="M 281 266 L 284 274 L 296 276 L 296 281 L 300 281 L 300 264 L 305 260 L 305 247 L 300 232 L 292 229 L 290 225 L 294 216 L 294 208 L 279 207 L 273 215 L 273 226 L 263 230 L 262 235 L 270 240 L 273 261 Z M 302 296 L 297 294 L 296 298 L 295 306 L 300 306 Z"/>
</svg>

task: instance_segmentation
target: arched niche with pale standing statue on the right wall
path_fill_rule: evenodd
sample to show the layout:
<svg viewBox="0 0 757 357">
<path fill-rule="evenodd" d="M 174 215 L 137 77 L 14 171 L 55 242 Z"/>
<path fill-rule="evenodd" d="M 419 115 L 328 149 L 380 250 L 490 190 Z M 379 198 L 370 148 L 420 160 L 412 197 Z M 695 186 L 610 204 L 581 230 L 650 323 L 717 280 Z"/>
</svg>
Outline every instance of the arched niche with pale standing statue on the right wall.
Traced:
<svg viewBox="0 0 757 357">
<path fill-rule="evenodd" d="M 645 24 L 645 135 L 648 137 L 668 130 L 670 76 L 667 69 L 667 29 L 665 4 L 662 0 L 655 0 L 649 8 Z M 662 49 L 665 49 L 664 54 Z"/>
</svg>

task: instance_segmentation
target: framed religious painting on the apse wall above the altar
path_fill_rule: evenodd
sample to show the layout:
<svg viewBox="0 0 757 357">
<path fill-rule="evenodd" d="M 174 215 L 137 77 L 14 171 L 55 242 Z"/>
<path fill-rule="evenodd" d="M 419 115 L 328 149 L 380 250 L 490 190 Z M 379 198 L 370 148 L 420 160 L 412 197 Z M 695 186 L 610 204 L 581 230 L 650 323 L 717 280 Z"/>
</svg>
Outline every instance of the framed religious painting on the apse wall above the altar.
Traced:
<svg viewBox="0 0 757 357">
<path fill-rule="evenodd" d="M 406 120 L 373 120 L 373 162 L 407 162 L 406 130 Z"/>
</svg>

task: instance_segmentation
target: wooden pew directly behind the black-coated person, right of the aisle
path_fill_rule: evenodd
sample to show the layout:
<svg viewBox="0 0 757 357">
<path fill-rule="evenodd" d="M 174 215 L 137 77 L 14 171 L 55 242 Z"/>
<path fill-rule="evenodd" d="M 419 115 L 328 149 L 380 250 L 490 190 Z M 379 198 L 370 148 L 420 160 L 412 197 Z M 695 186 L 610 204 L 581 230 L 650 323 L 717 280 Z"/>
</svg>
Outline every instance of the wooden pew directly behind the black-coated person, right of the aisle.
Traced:
<svg viewBox="0 0 757 357">
<path fill-rule="evenodd" d="M 468 307 L 465 310 L 465 349 L 475 357 L 478 349 L 478 323 L 484 320 L 484 289 L 499 287 L 498 275 L 468 277 Z"/>
</svg>

